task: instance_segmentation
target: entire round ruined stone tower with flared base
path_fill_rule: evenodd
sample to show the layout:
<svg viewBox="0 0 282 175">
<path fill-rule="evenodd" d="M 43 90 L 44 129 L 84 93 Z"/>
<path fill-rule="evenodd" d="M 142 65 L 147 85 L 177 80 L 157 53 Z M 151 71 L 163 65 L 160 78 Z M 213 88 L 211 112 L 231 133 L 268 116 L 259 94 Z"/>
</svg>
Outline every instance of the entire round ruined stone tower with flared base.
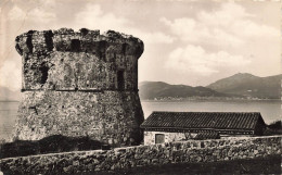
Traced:
<svg viewBox="0 0 282 175">
<path fill-rule="evenodd" d="M 115 146 L 140 143 L 140 39 L 86 28 L 29 30 L 16 37 L 15 48 L 23 63 L 16 138 L 89 136 Z"/>
</svg>

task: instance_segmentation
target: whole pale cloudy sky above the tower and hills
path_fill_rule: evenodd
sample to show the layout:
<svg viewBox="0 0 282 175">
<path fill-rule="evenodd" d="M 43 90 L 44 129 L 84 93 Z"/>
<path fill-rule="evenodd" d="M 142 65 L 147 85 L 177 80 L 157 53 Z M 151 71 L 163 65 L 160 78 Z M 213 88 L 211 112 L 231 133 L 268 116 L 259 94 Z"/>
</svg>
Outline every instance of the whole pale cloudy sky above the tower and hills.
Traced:
<svg viewBox="0 0 282 175">
<path fill-rule="evenodd" d="M 17 35 L 114 29 L 144 42 L 139 82 L 206 86 L 236 73 L 281 74 L 279 1 L 0 0 L 0 86 L 21 89 Z"/>
</svg>

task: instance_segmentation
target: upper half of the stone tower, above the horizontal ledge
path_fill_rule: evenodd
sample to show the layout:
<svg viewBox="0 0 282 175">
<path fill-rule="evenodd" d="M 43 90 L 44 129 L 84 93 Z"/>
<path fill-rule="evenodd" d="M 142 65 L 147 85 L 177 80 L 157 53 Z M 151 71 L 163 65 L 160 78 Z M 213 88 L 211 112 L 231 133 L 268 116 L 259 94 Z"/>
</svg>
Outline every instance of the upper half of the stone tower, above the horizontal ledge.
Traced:
<svg viewBox="0 0 282 175">
<path fill-rule="evenodd" d="M 23 90 L 137 90 L 142 40 L 108 30 L 29 30 L 16 37 Z"/>
</svg>

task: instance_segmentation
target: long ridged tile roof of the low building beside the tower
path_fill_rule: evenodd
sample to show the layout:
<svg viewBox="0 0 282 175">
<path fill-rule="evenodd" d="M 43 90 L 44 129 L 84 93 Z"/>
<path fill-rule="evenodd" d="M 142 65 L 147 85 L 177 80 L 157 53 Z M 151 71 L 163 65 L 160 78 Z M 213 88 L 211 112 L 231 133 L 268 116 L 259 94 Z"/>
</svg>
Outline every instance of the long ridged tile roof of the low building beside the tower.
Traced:
<svg viewBox="0 0 282 175">
<path fill-rule="evenodd" d="M 258 112 L 153 112 L 141 128 L 254 130 L 259 120 L 265 125 Z"/>
</svg>

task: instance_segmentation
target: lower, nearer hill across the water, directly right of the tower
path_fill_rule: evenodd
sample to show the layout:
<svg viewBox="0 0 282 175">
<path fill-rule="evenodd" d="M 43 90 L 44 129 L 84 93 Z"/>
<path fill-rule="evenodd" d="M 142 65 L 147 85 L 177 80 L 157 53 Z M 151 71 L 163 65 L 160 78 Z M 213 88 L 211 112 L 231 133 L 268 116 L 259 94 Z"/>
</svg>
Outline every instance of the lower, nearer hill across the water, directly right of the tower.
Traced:
<svg viewBox="0 0 282 175">
<path fill-rule="evenodd" d="M 206 87 L 169 85 L 163 82 L 142 82 L 139 84 L 139 95 L 141 99 L 162 98 L 189 98 L 189 97 L 226 97 Z"/>
</svg>

